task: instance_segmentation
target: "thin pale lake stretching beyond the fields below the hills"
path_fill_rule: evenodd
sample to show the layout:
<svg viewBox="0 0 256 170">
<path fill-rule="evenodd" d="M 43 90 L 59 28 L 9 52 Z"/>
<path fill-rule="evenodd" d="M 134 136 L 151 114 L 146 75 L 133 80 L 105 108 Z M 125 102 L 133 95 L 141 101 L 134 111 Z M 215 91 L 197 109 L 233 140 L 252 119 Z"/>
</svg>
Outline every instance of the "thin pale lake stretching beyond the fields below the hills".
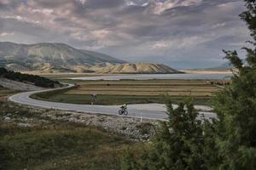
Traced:
<svg viewBox="0 0 256 170">
<path fill-rule="evenodd" d="M 151 80 L 151 79 L 229 79 L 231 73 L 212 74 L 129 74 L 129 75 L 105 75 L 96 77 L 73 77 L 73 80 Z"/>
</svg>

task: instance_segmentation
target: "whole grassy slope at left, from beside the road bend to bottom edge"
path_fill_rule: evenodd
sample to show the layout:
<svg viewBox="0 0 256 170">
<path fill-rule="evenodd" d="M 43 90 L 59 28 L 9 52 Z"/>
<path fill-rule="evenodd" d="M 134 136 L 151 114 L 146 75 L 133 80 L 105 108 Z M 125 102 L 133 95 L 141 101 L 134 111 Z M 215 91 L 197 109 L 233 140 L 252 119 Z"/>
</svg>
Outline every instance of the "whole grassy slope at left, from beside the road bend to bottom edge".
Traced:
<svg viewBox="0 0 256 170">
<path fill-rule="evenodd" d="M 0 94 L 9 95 L 6 90 Z M 137 147 L 100 127 L 54 121 L 35 111 L 0 99 L 0 169 L 120 169 L 127 147 Z M 33 126 L 18 125 L 26 121 Z"/>
</svg>

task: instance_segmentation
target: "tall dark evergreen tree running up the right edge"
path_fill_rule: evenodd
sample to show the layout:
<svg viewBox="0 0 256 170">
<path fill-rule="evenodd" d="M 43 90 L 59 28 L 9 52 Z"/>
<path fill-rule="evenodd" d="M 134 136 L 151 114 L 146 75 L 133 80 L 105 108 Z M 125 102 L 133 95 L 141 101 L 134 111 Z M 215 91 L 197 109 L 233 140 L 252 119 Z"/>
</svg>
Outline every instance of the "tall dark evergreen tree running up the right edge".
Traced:
<svg viewBox="0 0 256 170">
<path fill-rule="evenodd" d="M 245 66 L 236 51 L 224 51 L 236 67 L 232 84 L 214 100 L 218 114 L 220 169 L 256 168 L 256 2 L 245 0 L 247 11 L 241 14 L 250 30 L 253 48 L 247 51 Z"/>
</svg>

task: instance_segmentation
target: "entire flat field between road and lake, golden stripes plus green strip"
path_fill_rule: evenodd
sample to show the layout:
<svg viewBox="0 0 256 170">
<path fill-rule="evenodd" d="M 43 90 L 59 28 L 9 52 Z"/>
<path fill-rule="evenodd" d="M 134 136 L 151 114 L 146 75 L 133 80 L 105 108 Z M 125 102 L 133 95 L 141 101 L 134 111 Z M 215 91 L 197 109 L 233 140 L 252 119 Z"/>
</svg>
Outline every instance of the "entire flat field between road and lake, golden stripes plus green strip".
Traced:
<svg viewBox="0 0 256 170">
<path fill-rule="evenodd" d="M 72 81 L 79 88 L 59 94 L 37 94 L 33 98 L 55 102 L 90 104 L 91 94 L 96 94 L 97 105 L 121 105 L 124 103 L 164 103 L 169 95 L 174 102 L 193 97 L 195 104 L 207 104 L 221 90 L 209 80 L 121 80 L 121 81 Z"/>
</svg>

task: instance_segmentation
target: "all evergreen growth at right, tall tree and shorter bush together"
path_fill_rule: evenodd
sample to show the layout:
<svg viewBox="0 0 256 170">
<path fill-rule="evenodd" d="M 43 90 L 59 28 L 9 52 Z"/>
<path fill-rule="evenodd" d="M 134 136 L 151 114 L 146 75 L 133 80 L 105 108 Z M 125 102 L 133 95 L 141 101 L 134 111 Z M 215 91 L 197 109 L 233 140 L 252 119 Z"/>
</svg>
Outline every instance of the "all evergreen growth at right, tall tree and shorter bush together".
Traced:
<svg viewBox="0 0 256 170">
<path fill-rule="evenodd" d="M 191 101 L 176 109 L 167 103 L 169 120 L 163 122 L 152 143 L 141 150 L 129 150 L 123 170 L 254 170 L 256 167 L 256 2 L 245 0 L 247 22 L 253 41 L 247 51 L 247 65 L 236 51 L 224 51 L 236 67 L 232 83 L 212 99 L 218 119 L 195 119 Z"/>
</svg>

